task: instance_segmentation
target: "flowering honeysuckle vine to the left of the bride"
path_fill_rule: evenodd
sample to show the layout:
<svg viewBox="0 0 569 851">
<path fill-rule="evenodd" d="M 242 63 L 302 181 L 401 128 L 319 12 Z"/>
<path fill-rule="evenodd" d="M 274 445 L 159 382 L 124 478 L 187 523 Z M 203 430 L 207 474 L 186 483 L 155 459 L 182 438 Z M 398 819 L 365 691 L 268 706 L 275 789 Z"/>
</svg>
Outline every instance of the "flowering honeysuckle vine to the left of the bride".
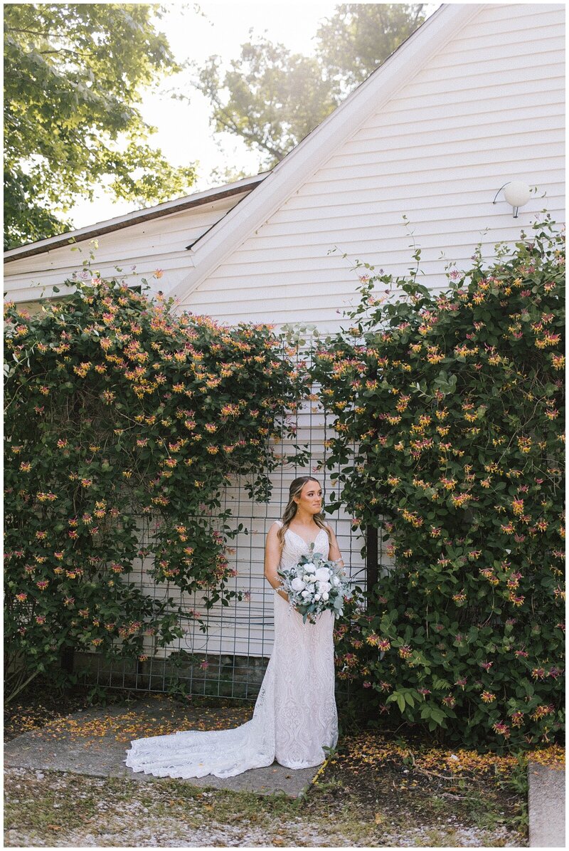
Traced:
<svg viewBox="0 0 569 851">
<path fill-rule="evenodd" d="M 182 591 L 228 604 L 235 531 L 221 494 L 242 474 L 254 499 L 268 498 L 275 444 L 292 434 L 286 414 L 306 387 L 269 326 L 177 316 L 172 300 L 96 272 L 66 283 L 75 292 L 33 316 L 5 306 L 4 624 L 15 689 L 57 671 L 65 648 L 135 658 L 145 637 L 155 647 L 180 637 Z M 144 545 L 141 524 L 151 529 Z"/>
</svg>

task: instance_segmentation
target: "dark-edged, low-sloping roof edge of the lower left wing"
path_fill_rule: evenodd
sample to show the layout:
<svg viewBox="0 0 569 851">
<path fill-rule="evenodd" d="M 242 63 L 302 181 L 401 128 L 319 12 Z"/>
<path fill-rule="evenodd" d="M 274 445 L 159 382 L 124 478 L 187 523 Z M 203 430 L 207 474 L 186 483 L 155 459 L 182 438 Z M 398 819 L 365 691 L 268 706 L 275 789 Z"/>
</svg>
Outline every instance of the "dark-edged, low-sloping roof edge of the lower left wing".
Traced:
<svg viewBox="0 0 569 851">
<path fill-rule="evenodd" d="M 225 184 L 225 186 L 215 186 L 212 189 L 193 192 L 191 195 L 175 198 L 174 201 L 165 201 L 162 204 L 156 204 L 154 207 L 134 210 L 132 213 L 126 213 L 116 216 L 113 219 L 96 222 L 94 225 L 80 227 L 76 231 L 65 231 L 65 233 L 60 233 L 56 237 L 39 239 L 35 243 L 26 243 L 26 245 L 20 245 L 18 248 L 10 248 L 4 252 L 4 263 L 10 263 L 13 260 L 22 260 L 22 258 L 31 257 L 34 254 L 43 254 L 46 251 L 51 251 L 53 248 L 68 245 L 71 240 L 80 243 L 86 239 L 100 237 L 104 233 L 120 231 L 124 227 L 138 225 L 143 221 L 159 219 L 165 215 L 180 213 L 182 210 L 200 207 L 202 204 L 220 201 L 222 198 L 230 197 L 231 195 L 250 192 L 255 186 L 259 186 L 262 180 L 265 180 L 267 174 L 269 172 L 261 172 L 260 174 L 255 174 L 253 177 L 245 177 L 242 180 L 236 180 L 234 183 Z"/>
</svg>

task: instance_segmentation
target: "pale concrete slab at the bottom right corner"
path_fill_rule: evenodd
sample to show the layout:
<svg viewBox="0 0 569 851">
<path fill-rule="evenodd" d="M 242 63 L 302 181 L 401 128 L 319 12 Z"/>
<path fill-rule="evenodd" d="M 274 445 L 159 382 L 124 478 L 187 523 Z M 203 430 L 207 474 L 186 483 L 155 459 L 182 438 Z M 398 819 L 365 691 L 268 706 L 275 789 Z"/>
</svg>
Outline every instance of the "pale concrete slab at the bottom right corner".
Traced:
<svg viewBox="0 0 569 851">
<path fill-rule="evenodd" d="M 530 848 L 565 848 L 565 767 L 528 762 Z"/>
</svg>

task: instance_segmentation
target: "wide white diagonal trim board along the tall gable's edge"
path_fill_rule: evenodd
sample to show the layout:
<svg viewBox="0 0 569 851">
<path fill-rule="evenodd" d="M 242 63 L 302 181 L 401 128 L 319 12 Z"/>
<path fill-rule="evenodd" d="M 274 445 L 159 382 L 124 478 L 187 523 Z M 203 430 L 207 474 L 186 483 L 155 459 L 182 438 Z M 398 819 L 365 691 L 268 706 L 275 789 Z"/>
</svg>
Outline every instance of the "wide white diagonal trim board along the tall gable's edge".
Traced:
<svg viewBox="0 0 569 851">
<path fill-rule="evenodd" d="M 265 177 L 255 191 L 242 199 L 223 219 L 188 246 L 191 271 L 167 290 L 184 300 L 221 266 L 251 234 L 282 207 L 309 180 L 345 140 L 369 116 L 390 100 L 448 43 L 454 34 L 475 18 L 483 4 L 446 3 L 413 32 L 383 65 L 373 71 L 327 118 Z"/>
</svg>

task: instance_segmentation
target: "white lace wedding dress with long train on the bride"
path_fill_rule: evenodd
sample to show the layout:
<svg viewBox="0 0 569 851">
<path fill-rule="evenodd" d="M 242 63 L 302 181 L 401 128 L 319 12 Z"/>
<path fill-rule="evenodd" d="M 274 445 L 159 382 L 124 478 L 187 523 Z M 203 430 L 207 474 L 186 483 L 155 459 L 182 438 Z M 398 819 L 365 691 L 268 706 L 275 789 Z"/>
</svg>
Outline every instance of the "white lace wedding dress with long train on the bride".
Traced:
<svg viewBox="0 0 569 851">
<path fill-rule="evenodd" d="M 323 529 L 314 549 L 327 558 Z M 297 564 L 308 552 L 304 539 L 287 529 L 281 569 Z M 233 777 L 275 759 L 287 768 L 320 765 L 326 757 L 322 746 L 338 742 L 333 624 L 329 611 L 319 614 L 315 624 L 303 624 L 302 615 L 275 591 L 275 643 L 253 718 L 227 730 L 179 730 L 135 739 L 123 762 L 134 771 L 181 778 Z"/>
</svg>

